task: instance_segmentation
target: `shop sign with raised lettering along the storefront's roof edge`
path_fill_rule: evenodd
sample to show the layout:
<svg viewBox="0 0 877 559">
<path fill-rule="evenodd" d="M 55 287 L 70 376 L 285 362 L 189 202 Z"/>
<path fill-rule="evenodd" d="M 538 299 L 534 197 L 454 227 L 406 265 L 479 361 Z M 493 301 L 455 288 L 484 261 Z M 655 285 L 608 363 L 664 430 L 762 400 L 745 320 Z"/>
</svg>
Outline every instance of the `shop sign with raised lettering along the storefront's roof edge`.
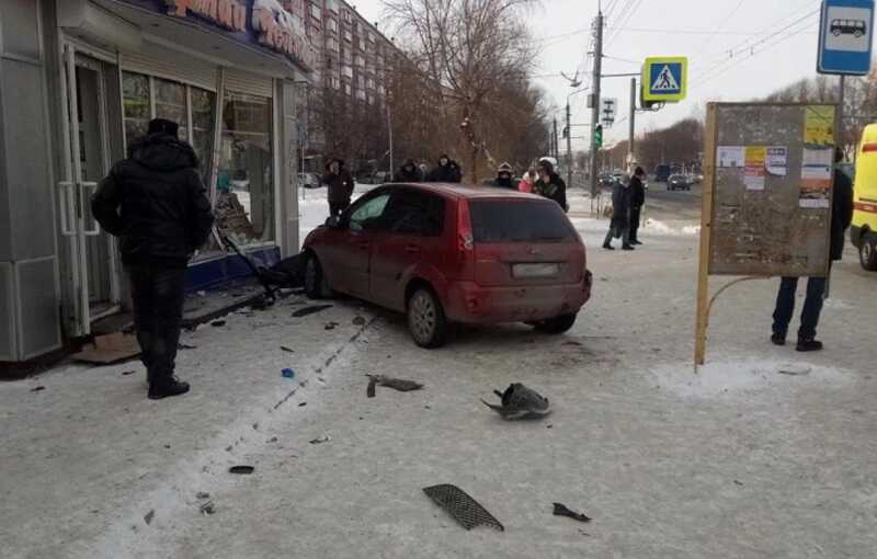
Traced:
<svg viewBox="0 0 877 559">
<path fill-rule="evenodd" d="M 281 53 L 307 69 L 316 53 L 301 19 L 277 0 L 121 0 L 173 18 L 219 27 L 236 39 Z"/>
</svg>

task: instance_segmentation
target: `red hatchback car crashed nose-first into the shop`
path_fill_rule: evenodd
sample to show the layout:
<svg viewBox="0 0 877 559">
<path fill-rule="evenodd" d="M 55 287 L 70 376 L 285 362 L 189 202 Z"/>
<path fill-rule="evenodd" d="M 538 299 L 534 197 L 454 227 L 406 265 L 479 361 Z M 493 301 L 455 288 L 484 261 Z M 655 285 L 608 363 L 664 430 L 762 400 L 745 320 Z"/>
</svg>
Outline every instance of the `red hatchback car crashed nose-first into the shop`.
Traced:
<svg viewBox="0 0 877 559">
<path fill-rule="evenodd" d="M 591 296 L 584 244 L 553 201 L 458 184 L 375 189 L 305 240 L 309 297 L 340 292 L 406 312 L 437 347 L 451 322 L 566 332 Z"/>
</svg>

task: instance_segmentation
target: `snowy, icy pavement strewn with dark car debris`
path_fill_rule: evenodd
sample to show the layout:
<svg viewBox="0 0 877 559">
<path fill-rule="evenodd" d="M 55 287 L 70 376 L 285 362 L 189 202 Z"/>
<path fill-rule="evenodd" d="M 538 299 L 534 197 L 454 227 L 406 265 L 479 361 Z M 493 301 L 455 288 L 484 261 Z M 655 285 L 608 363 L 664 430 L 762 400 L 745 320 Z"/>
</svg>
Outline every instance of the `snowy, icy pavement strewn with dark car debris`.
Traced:
<svg viewBox="0 0 877 559">
<path fill-rule="evenodd" d="M 186 334 L 182 398 L 148 401 L 139 364 L 0 384 L 0 555 L 872 557 L 875 343 L 853 324 L 876 323 L 877 277 L 835 266 L 821 354 L 770 344 L 775 281 L 734 286 L 695 376 L 697 236 L 647 227 L 606 252 L 605 219 L 576 224 L 594 295 L 562 336 L 464 329 L 424 351 L 401 317 L 341 300 L 295 318 L 287 299 Z M 367 398 L 366 374 L 425 386 Z M 479 401 L 512 381 L 554 413 L 506 422 Z M 505 532 L 463 529 L 423 494 L 436 483 Z"/>
</svg>

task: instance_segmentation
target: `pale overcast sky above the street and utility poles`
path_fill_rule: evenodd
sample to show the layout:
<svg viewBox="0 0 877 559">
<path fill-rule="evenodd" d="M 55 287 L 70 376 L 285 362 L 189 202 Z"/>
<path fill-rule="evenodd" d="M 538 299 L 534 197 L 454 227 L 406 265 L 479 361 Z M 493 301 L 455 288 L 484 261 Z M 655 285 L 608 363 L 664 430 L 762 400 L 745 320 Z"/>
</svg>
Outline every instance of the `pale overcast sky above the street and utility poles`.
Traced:
<svg viewBox="0 0 877 559">
<path fill-rule="evenodd" d="M 380 21 L 381 0 L 354 0 L 371 21 Z M 639 113 L 637 134 L 672 124 L 709 101 L 748 101 L 816 75 L 819 0 L 602 0 L 606 16 L 603 73 L 639 71 L 647 56 L 688 57 L 688 98 L 656 113 Z M 544 0 L 533 9 L 533 32 L 543 45 L 534 69 L 558 106 L 558 127 L 572 91 L 560 71 L 580 77 L 591 45 L 597 0 Z M 731 56 L 733 53 L 733 56 Z M 623 60 L 619 60 L 623 59 Z M 585 83 L 590 83 L 590 78 Z M 630 78 L 603 80 L 603 96 L 618 99 L 617 121 L 629 112 Z M 589 123 L 586 94 L 572 96 L 573 124 Z M 616 121 L 616 122 L 617 122 Z M 606 144 L 627 138 L 627 122 L 606 132 Z M 573 137 L 586 128 L 573 128 Z M 577 139 L 573 149 L 584 149 Z"/>
</svg>

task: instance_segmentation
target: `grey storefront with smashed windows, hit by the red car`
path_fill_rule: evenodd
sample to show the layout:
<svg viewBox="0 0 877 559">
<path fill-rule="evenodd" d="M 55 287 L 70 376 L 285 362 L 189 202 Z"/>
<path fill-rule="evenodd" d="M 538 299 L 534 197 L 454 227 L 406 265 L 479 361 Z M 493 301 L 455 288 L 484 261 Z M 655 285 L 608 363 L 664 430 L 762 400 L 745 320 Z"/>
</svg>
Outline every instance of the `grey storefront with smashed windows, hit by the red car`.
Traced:
<svg viewBox="0 0 877 559">
<path fill-rule="evenodd" d="M 151 118 L 194 147 L 217 225 L 269 264 L 298 249 L 295 96 L 315 52 L 276 0 L 0 0 L 0 362 L 127 309 L 89 199 Z M 215 235 L 192 290 L 248 272 Z"/>
</svg>

